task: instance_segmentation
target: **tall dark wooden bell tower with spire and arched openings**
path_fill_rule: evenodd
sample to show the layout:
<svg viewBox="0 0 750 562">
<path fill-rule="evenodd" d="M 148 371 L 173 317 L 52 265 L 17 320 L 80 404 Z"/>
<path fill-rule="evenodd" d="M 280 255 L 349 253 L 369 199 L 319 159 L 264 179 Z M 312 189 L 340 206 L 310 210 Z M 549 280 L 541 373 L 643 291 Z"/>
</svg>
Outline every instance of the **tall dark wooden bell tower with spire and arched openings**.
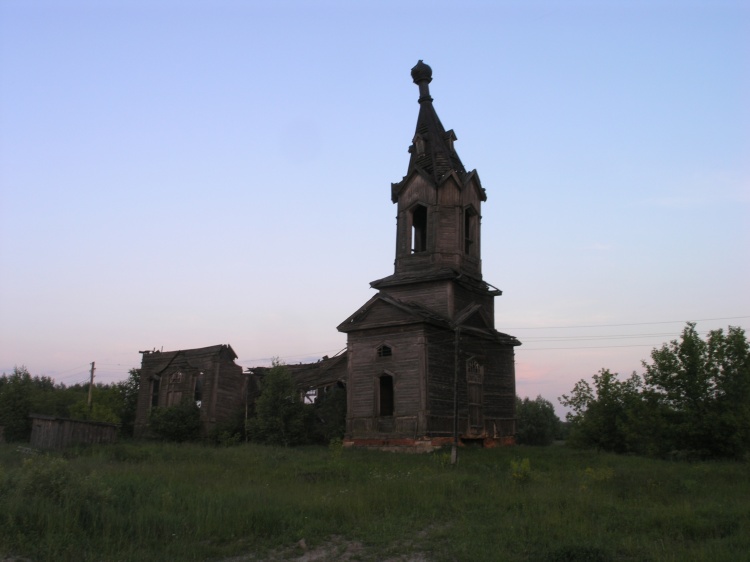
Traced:
<svg viewBox="0 0 750 562">
<path fill-rule="evenodd" d="M 434 446 L 450 440 L 511 442 L 515 433 L 514 351 L 495 330 L 494 298 L 482 280 L 481 204 L 432 105 L 432 71 L 412 69 L 420 111 L 406 176 L 391 187 L 398 206 L 393 275 L 344 321 L 347 442 Z M 457 406 L 457 415 L 454 408 Z"/>
</svg>

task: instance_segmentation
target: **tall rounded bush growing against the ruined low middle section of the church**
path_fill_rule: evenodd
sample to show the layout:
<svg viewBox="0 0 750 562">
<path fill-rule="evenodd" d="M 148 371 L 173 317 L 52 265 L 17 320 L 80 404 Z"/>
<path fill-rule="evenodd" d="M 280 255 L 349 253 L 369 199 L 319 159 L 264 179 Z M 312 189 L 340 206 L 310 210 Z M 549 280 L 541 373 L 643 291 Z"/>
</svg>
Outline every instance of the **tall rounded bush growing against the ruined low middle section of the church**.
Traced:
<svg viewBox="0 0 750 562">
<path fill-rule="evenodd" d="M 299 445 L 306 440 L 306 411 L 289 371 L 277 359 L 263 378 L 261 395 L 250 420 L 253 441 Z"/>
</svg>

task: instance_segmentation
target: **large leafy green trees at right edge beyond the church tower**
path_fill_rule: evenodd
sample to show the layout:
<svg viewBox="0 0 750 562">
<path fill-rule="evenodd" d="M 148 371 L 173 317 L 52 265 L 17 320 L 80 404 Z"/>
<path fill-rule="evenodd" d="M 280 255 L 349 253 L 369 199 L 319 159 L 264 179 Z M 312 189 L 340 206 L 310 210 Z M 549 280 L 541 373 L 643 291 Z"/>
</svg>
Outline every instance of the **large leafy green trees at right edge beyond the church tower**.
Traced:
<svg viewBox="0 0 750 562">
<path fill-rule="evenodd" d="M 643 374 L 628 378 L 602 369 L 559 399 L 570 409 L 571 445 L 671 458 L 750 452 L 750 343 L 742 328 L 704 340 L 688 323 L 642 364 Z"/>
</svg>

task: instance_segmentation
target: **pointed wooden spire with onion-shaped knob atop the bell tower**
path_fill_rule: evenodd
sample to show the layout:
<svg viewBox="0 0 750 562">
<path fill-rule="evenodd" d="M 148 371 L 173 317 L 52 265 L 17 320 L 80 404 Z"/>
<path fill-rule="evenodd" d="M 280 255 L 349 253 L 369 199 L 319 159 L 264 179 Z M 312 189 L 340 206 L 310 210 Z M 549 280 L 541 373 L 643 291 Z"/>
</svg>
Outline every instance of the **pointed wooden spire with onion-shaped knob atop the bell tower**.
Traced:
<svg viewBox="0 0 750 562">
<path fill-rule="evenodd" d="M 453 148 L 456 135 L 452 129 L 445 130 L 432 105 L 429 86 L 432 82 L 432 69 L 420 60 L 411 69 L 411 77 L 419 86 L 419 116 L 412 145 L 409 147 L 411 158 L 406 175 L 421 169 L 436 183 L 451 172 L 456 172 L 463 179 L 466 169 Z"/>
</svg>

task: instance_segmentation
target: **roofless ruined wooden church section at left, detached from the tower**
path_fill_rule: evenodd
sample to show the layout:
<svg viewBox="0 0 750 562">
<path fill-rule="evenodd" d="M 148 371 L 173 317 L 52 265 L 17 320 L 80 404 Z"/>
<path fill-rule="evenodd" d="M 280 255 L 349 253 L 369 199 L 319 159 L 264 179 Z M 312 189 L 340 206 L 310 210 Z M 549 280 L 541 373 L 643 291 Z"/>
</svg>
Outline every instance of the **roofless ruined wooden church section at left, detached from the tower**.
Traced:
<svg viewBox="0 0 750 562">
<path fill-rule="evenodd" d="M 149 414 L 157 406 L 194 400 L 200 406 L 203 433 L 245 408 L 247 376 L 235 364 L 237 354 L 231 346 L 141 353 L 137 437 L 148 435 Z"/>
</svg>

